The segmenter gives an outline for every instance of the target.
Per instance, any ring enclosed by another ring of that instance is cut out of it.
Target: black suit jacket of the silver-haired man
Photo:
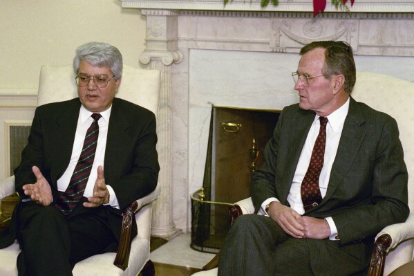
[[[23,198],[23,185],[36,182],[31,169],[36,165],[50,184],[52,204],[55,204],[59,196],[57,179],[68,167],[80,107],[79,98],[37,107],[28,145],[23,149],[21,164],[15,169],[16,191]],[[160,169],[156,142],[154,114],[136,104],[114,98],[106,140],[104,177],[106,185],[113,187],[120,210],[109,205],[104,208],[118,241],[122,210],[156,188]],[[136,226],[134,230],[133,234],[136,234]]]

